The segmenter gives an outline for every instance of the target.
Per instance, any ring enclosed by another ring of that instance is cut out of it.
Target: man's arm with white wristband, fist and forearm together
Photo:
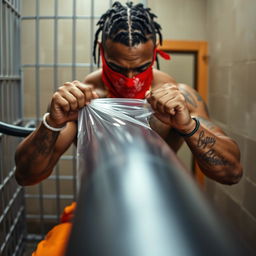
[[[75,139],[78,110],[97,97],[91,86],[78,81],[66,83],[54,93],[46,122],[54,128],[65,128],[52,131],[41,123],[20,143],[15,154],[15,177],[20,185],[36,184],[51,174]]]

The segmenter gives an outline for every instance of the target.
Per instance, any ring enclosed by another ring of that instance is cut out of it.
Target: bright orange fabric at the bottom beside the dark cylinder
[[[69,234],[72,228],[71,220],[74,216],[76,203],[65,207],[61,217],[61,224],[51,229],[44,240],[38,245],[32,256],[64,256]]]

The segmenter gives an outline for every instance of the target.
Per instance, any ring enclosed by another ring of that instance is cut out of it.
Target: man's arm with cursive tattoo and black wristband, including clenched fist
[[[198,131],[184,137],[201,170],[224,184],[235,184],[242,176],[237,144],[214,125],[200,95],[186,85],[165,84],[147,95],[156,116],[178,132],[189,134],[200,121]],[[177,136],[178,133],[177,133]]]

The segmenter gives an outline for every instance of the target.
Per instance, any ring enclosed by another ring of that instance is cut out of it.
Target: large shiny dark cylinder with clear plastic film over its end
[[[78,121],[80,189],[67,255],[245,255],[143,100],[97,99]]]

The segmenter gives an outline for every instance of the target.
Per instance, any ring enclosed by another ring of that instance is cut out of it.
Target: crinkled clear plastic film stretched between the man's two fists
[[[146,100],[95,99],[80,110],[77,140],[77,181],[100,163],[103,150],[115,157],[118,148],[133,138],[133,133],[150,129],[153,111]]]

